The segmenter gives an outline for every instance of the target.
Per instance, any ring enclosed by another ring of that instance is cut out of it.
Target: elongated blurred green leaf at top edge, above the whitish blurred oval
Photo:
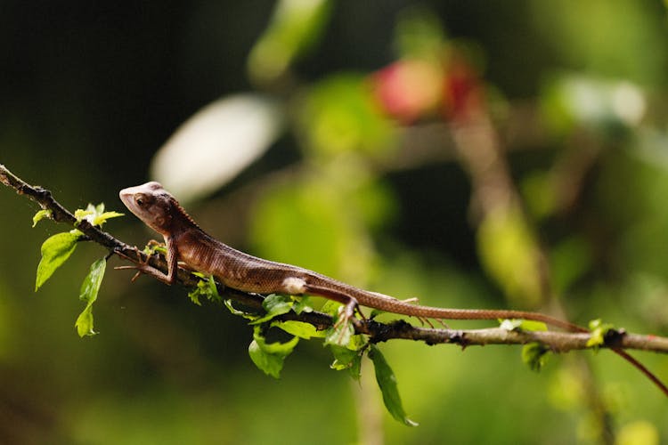
[[[261,84],[282,77],[290,63],[318,41],[330,6],[328,0],[279,0],[269,26],[250,51],[250,77]]]

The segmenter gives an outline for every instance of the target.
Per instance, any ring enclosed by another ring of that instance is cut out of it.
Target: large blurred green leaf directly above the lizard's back
[[[274,186],[257,201],[250,221],[261,256],[352,282],[369,279],[369,239],[337,184],[317,178]]]

